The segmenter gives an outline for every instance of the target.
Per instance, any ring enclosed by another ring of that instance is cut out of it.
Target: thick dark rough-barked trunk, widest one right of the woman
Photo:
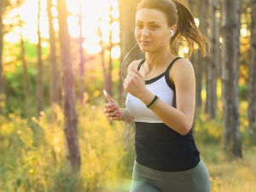
[[[224,149],[236,157],[241,157],[241,136],[237,91],[237,31],[239,16],[238,1],[224,0],[222,4],[222,101],[224,108]]]

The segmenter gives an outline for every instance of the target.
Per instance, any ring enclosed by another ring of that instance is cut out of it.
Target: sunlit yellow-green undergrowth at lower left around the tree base
[[[123,170],[121,137],[103,116],[102,108],[88,103],[79,108],[82,166],[75,173],[66,161],[64,116],[59,106],[41,113],[38,119],[22,119],[14,113],[0,119],[1,192],[94,191]]]

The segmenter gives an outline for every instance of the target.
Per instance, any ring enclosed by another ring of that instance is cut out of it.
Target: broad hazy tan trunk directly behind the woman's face
[[[137,10],[137,3],[139,0],[119,0],[119,24],[120,24],[120,65],[127,54],[127,52],[137,43],[134,35],[135,29],[135,15]],[[127,67],[131,61],[142,59],[144,54],[137,46],[136,49],[131,51],[131,54],[125,59],[123,67],[120,67],[119,72],[119,103],[122,105],[125,103],[126,91],[123,87],[123,79],[127,75]],[[122,71],[121,71],[122,70]]]

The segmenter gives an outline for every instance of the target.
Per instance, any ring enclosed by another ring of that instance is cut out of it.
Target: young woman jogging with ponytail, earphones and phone
[[[135,151],[131,192],[209,192],[207,167],[192,132],[195,73],[175,56],[173,42],[186,39],[206,54],[207,39],[189,9],[175,0],[142,0],[137,6],[135,36],[145,59],[132,61],[124,88],[125,106],[106,103],[110,120],[134,120]],[[169,47],[170,46],[170,47]],[[121,113],[125,113],[122,115]]]

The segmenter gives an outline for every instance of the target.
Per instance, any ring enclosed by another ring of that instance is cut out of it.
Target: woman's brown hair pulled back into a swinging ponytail
[[[177,31],[170,40],[172,54],[177,55],[172,44],[175,38],[185,40],[189,45],[190,54],[195,50],[195,44],[201,49],[201,54],[206,55],[206,47],[210,49],[207,38],[199,31],[195,25],[195,20],[190,10],[177,0],[142,0],[137,5],[140,9],[158,9],[166,15],[168,26],[177,25]]]

